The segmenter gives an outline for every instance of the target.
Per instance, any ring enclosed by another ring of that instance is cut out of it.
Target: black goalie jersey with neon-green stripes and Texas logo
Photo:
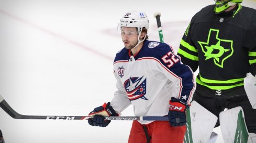
[[[178,55],[195,72],[197,84],[210,89],[243,86],[246,73],[256,74],[256,10],[237,6],[229,17],[216,15],[215,5],[192,18]]]

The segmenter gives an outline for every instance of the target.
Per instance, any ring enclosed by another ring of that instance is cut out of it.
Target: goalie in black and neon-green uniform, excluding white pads
[[[256,110],[243,87],[247,73],[256,74],[256,10],[241,2],[216,0],[197,12],[178,55],[194,72],[199,67],[193,100],[216,116],[241,106],[249,133],[256,133]]]

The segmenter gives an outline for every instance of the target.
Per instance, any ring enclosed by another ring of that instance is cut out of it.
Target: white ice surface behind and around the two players
[[[256,7],[244,0],[243,5]],[[193,15],[210,0],[14,1],[0,0],[0,94],[28,115],[87,115],[116,90],[113,59],[123,48],[117,23],[125,12],[149,17],[150,40],[159,41],[153,14],[161,11],[165,43],[175,50]],[[123,115],[133,115],[132,107]],[[127,142],[131,121],[93,127],[85,121],[15,120],[0,109],[7,143]],[[221,143],[220,129],[217,142]]]

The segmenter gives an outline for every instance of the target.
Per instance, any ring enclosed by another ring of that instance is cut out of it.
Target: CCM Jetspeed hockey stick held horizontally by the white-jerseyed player
[[[13,110],[5,99],[0,95],[0,107],[14,119],[42,119],[42,120],[88,120],[92,116],[42,116],[42,115],[22,115]],[[106,116],[105,120],[140,120],[140,121],[168,121],[167,116]]]

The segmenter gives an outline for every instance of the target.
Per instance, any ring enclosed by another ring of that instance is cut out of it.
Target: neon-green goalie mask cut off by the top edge
[[[242,3],[243,0],[215,0],[215,14],[220,14],[221,12],[228,9],[230,6]]]

